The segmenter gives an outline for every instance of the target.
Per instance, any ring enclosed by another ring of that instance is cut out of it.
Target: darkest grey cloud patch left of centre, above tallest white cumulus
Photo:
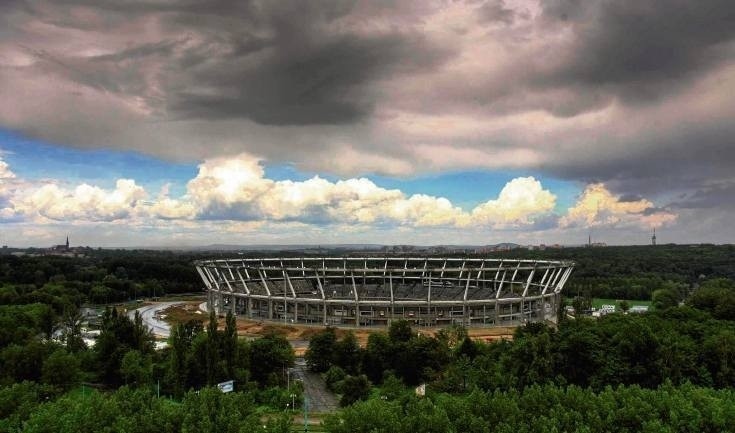
[[[173,89],[169,108],[184,117],[248,117],[262,124],[354,122],[371,111],[365,86],[372,80],[443,55],[420,36],[401,34],[269,48],[269,59],[255,67],[248,65],[250,53],[194,66],[187,78],[212,91],[199,95],[184,83]]]

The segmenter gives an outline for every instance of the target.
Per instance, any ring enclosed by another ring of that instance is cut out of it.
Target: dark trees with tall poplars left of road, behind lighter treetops
[[[267,391],[285,382],[283,369],[294,360],[282,336],[238,339],[231,315],[224,329],[218,329],[213,314],[206,327],[201,321],[174,326],[169,346],[154,350],[151,332],[137,313],[131,319],[107,309],[92,348],[81,338],[78,313],[67,310],[58,324],[47,321],[50,314],[43,304],[0,306],[0,385],[33,381],[52,395],[82,382],[104,389],[155,386],[181,397],[189,389],[235,379],[241,389]],[[59,339],[50,338],[54,331]]]

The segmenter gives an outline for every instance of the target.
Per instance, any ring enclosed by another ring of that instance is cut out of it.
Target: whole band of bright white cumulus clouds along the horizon
[[[8,182],[12,188],[2,189]],[[114,188],[24,181],[0,160],[0,194],[4,194],[0,195],[0,216],[36,224],[113,223],[187,230],[212,230],[213,224],[228,224],[235,231],[263,224],[283,229],[308,226],[342,234],[377,228],[533,231],[582,226],[659,227],[676,219],[675,214],[656,208],[647,199],[623,199],[601,183],[588,185],[557,225],[557,197],[534,177],[512,179],[497,197],[465,210],[445,197],[409,195],[367,178],[270,179],[262,161],[250,154],[202,162],[181,196],[172,197],[169,186],[151,198],[132,179],[118,179]],[[539,221],[550,221],[553,227],[538,228],[535,223]]]

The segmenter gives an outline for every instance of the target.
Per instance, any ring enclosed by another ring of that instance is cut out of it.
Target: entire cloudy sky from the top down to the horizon
[[[732,0],[0,2],[0,242],[735,241]]]

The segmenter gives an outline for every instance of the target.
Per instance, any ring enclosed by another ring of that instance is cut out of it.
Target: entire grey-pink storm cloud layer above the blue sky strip
[[[0,8],[0,122],[55,143],[349,176],[528,169],[681,208],[717,203],[735,167],[731,0]]]

